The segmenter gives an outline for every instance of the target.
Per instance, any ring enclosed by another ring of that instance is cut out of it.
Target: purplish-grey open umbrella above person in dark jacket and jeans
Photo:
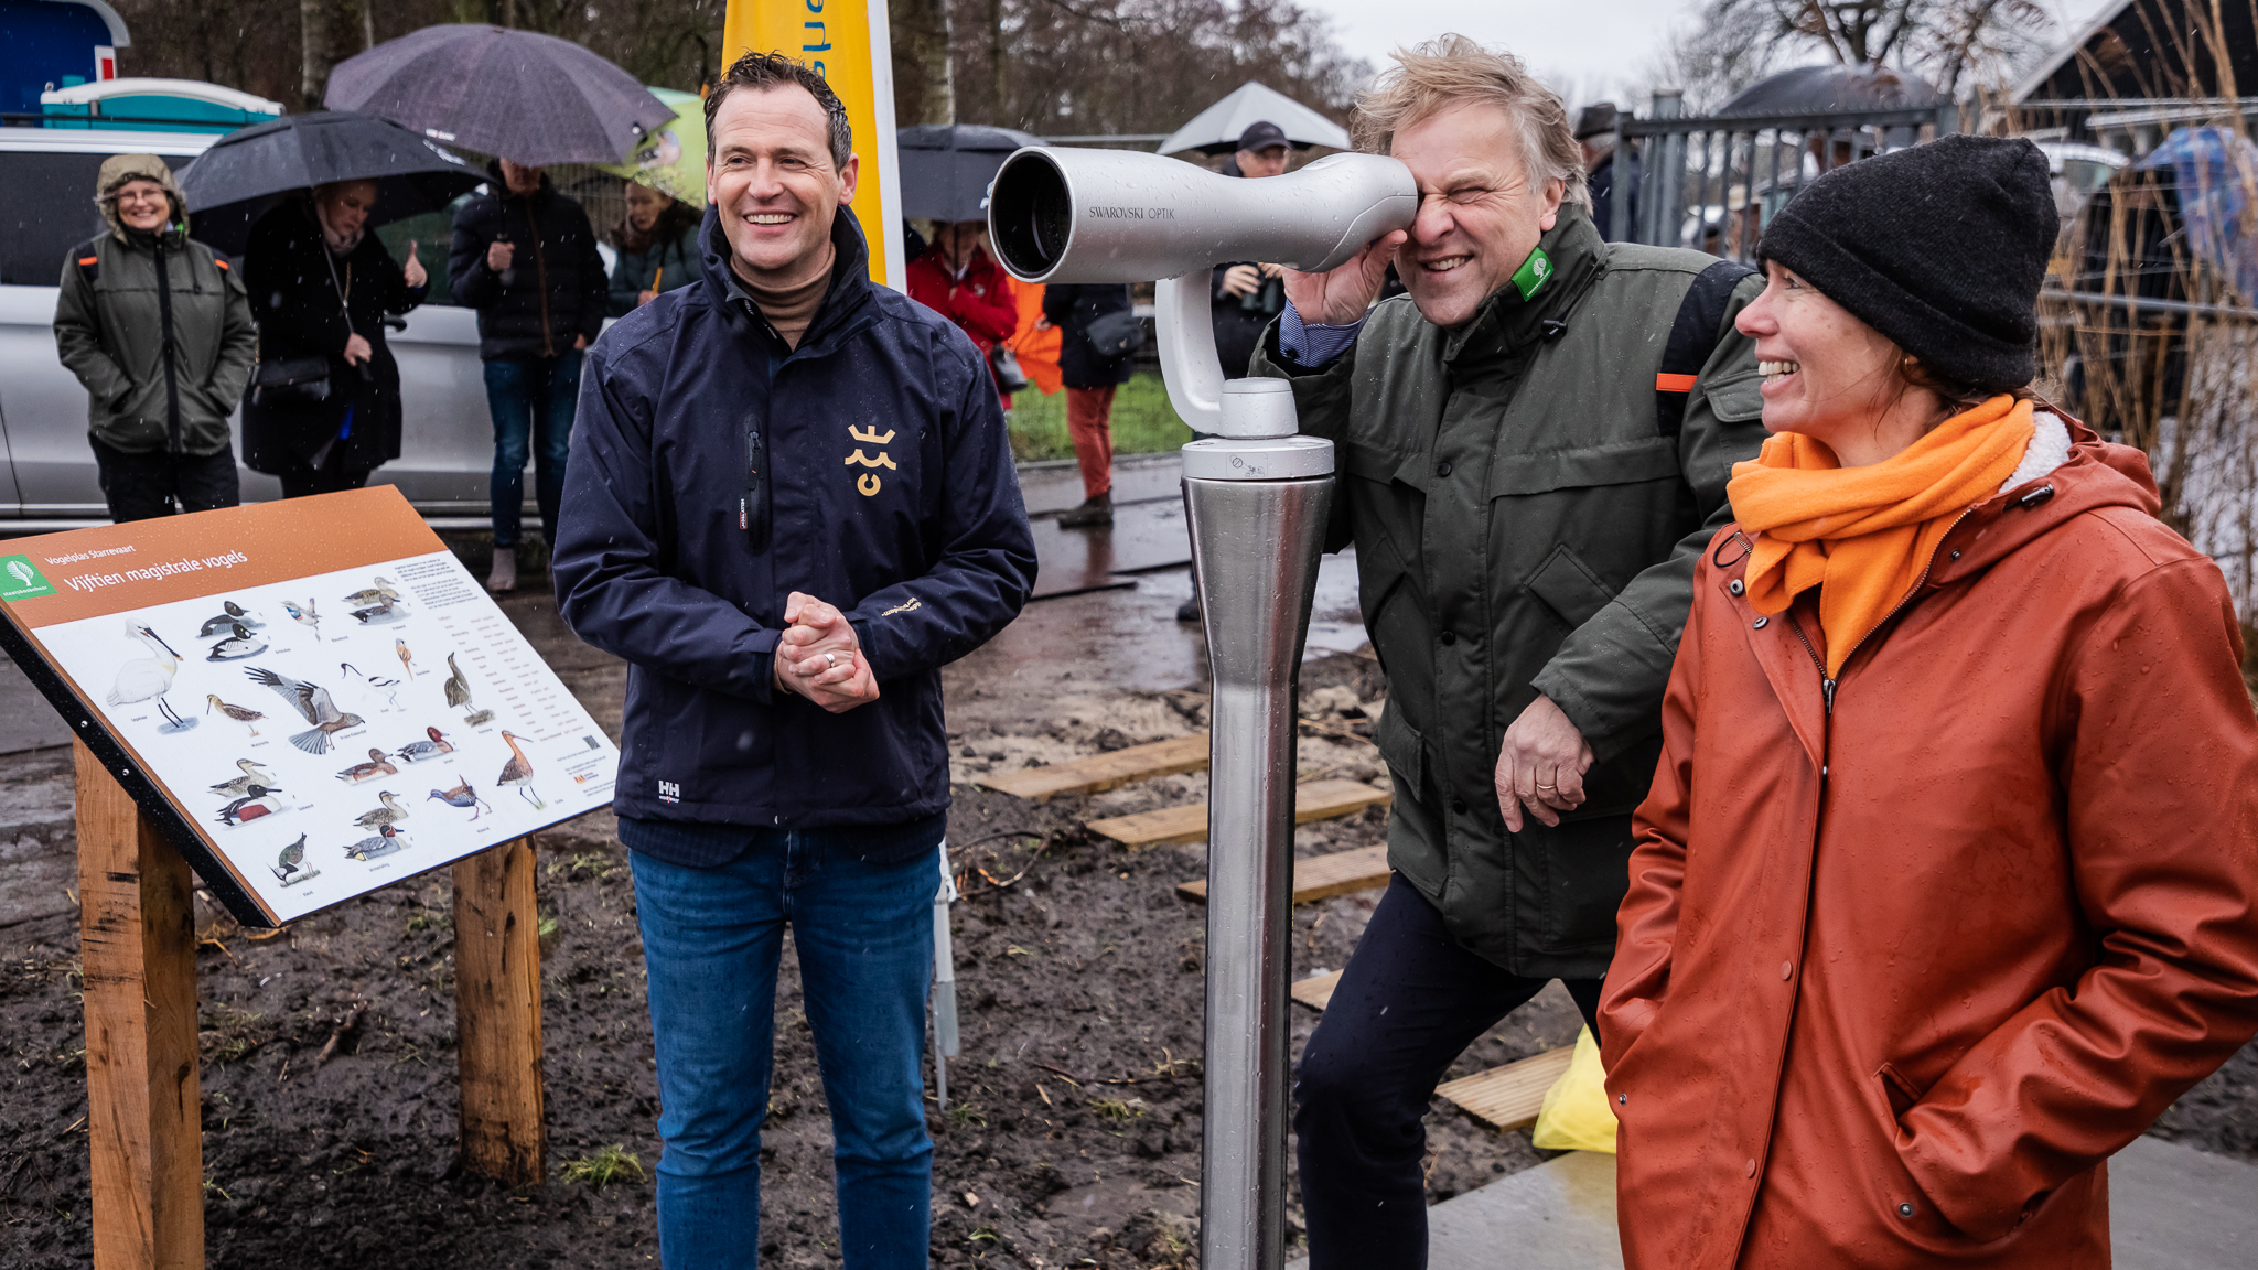
[[[533,167],[619,163],[675,118],[632,75],[555,36],[445,25],[336,63],[323,104]]]

